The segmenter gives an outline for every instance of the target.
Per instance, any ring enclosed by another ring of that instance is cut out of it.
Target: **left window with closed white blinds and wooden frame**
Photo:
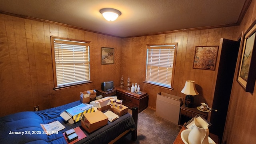
[[[90,81],[90,42],[51,37],[54,89]]]

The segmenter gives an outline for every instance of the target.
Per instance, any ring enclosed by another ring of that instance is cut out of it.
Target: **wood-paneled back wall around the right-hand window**
[[[195,46],[219,45],[220,38],[234,40],[237,36],[236,30],[237,27],[225,27],[122,39],[121,73],[125,78],[130,76],[132,83],[140,84],[142,91],[148,92],[148,106],[151,108],[156,108],[156,95],[160,92],[185,98],[186,95],[180,91],[186,80],[194,80],[196,83],[199,95],[194,97],[194,104],[199,106],[204,102],[211,107],[216,71],[192,69]],[[173,90],[143,83],[146,71],[146,44],[158,43],[178,43]]]

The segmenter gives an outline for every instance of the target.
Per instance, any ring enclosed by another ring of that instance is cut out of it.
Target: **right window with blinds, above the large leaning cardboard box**
[[[147,45],[146,82],[172,87],[177,43]]]

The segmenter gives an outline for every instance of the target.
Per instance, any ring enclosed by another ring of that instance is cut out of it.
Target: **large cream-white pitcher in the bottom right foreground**
[[[208,135],[209,129],[206,122],[203,119],[194,118],[194,128],[188,134],[189,144],[209,144]]]

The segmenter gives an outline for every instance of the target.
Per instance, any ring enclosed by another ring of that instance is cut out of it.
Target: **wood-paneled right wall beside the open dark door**
[[[248,31],[253,23],[256,24],[256,0],[252,0],[238,28],[238,34]],[[248,93],[236,81],[241,51],[242,47],[236,64],[223,144],[252,144],[256,141],[256,86],[254,93]]]

